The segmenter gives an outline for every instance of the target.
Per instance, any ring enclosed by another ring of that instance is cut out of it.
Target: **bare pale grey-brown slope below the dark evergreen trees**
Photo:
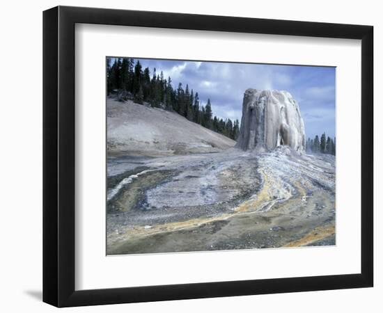
[[[178,113],[132,101],[107,99],[109,155],[161,156],[219,152],[233,147],[230,138],[190,122]]]

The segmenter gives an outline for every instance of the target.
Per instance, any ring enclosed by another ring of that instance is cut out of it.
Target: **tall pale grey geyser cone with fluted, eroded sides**
[[[237,145],[242,150],[269,151],[279,145],[304,152],[306,138],[298,103],[287,91],[247,89]]]

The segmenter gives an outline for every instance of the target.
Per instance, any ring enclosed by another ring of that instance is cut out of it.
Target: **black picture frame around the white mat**
[[[361,273],[76,291],[76,23],[361,40]],[[65,6],[44,11],[44,302],[71,307],[359,287],[373,287],[373,26]]]

